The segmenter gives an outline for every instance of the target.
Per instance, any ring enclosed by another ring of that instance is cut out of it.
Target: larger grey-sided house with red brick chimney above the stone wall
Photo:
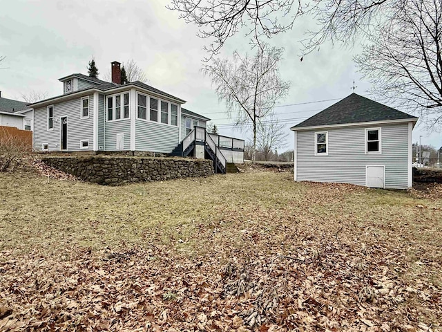
[[[205,132],[210,119],[183,109],[181,98],[120,80],[119,62],[112,63],[112,82],[79,73],[60,78],[62,95],[30,105],[35,150],[171,154],[196,128]]]

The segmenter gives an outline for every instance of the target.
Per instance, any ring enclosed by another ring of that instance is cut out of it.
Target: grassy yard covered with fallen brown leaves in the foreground
[[[442,331],[442,203],[419,193],[0,174],[0,331]]]

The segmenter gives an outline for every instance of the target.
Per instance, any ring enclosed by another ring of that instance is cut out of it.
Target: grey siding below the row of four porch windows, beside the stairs
[[[186,128],[184,127],[184,133]],[[156,122],[135,121],[135,149],[169,154],[180,143],[180,129]]]

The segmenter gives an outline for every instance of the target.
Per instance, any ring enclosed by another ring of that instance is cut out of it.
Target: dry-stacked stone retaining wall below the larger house
[[[47,165],[100,185],[164,181],[213,174],[212,160],[113,156],[42,157]]]

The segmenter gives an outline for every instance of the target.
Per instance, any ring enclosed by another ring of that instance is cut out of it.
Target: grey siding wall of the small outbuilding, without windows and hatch
[[[365,128],[381,127],[382,154],[365,154]],[[315,156],[315,131],[328,131],[328,156]],[[408,124],[298,131],[298,181],[365,185],[366,165],[385,165],[385,187],[407,188]]]

